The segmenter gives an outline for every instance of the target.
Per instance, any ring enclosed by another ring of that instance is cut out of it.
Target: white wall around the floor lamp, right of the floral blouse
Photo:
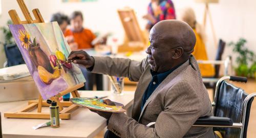
[[[203,21],[204,5],[195,3],[193,0],[174,0],[176,9],[183,7],[192,7],[197,15],[199,23]],[[240,37],[247,39],[247,47],[256,54],[256,1],[255,0],[219,0],[218,4],[210,4],[214,28],[217,38],[222,38],[226,42],[237,41]],[[178,13],[177,13],[178,14]],[[208,18],[207,18],[208,19]],[[206,25],[207,34],[207,52],[209,59],[214,59],[216,47],[212,37],[209,20]],[[234,55],[232,49],[226,46],[224,58],[228,55]],[[235,63],[235,56],[233,62]]]

